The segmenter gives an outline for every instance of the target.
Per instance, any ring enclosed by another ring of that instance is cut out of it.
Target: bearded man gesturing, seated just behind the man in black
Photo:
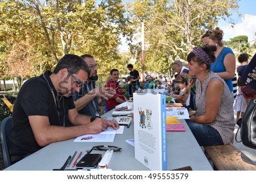
[[[101,97],[108,100],[108,98],[114,95],[115,90],[111,88],[101,88],[101,86],[97,86],[96,88],[98,65],[92,55],[82,55],[81,57],[90,68],[90,76],[88,80],[85,81],[80,92],[75,92],[73,100],[79,114],[90,115],[92,117],[100,116],[98,114],[98,104],[101,102]]]

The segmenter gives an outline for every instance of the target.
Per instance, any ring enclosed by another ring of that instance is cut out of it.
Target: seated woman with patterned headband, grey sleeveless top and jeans
[[[229,144],[236,124],[228,85],[210,71],[215,60],[214,51],[216,46],[196,47],[188,55],[189,75],[197,76],[197,110],[187,124],[200,146]]]

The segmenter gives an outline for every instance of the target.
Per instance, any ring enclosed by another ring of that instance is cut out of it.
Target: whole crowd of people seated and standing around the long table
[[[238,56],[241,65],[237,68],[238,96],[234,101],[236,59],[232,49],[223,46],[222,36],[218,27],[205,32],[201,36],[204,46],[193,48],[187,66],[176,60],[172,63],[175,75],[153,76],[148,72],[144,85],[139,72],[132,64],[127,65],[129,97],[140,89],[166,89],[189,110],[191,89],[195,88],[197,109],[187,124],[200,146],[232,142],[234,109],[237,119],[243,117],[250,98],[255,96],[246,96],[242,88],[255,88],[256,56],[249,63],[249,55],[242,53]],[[12,163],[53,142],[98,134],[108,126],[118,129],[116,121],[100,117],[98,106],[105,100],[111,110],[127,101],[118,82],[119,71],[113,68],[105,87],[101,87],[96,86],[97,68],[92,55],[69,54],[60,59],[53,72],[46,71],[23,84],[14,104],[9,137]]]

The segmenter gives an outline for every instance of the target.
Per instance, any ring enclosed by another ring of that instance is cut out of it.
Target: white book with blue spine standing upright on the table
[[[167,170],[166,96],[134,93],[135,159],[151,170]]]

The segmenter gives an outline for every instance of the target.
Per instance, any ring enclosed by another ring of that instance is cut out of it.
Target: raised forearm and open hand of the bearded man
[[[95,89],[90,90],[90,92],[74,101],[76,110],[82,110],[96,96],[103,97],[104,99],[108,100],[108,98],[112,97],[114,93],[115,90],[110,87],[101,88],[101,86],[97,86]]]

